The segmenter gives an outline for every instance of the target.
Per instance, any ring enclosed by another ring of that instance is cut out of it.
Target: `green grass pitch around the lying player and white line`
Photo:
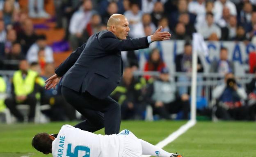
[[[184,121],[123,121],[138,138],[157,144],[185,124]],[[64,122],[49,124],[0,124],[0,157],[51,157],[31,146],[32,137],[39,132],[57,133]],[[75,122],[65,122],[74,125]],[[96,133],[103,134],[100,130]],[[165,150],[185,157],[256,157],[255,122],[197,122]]]

